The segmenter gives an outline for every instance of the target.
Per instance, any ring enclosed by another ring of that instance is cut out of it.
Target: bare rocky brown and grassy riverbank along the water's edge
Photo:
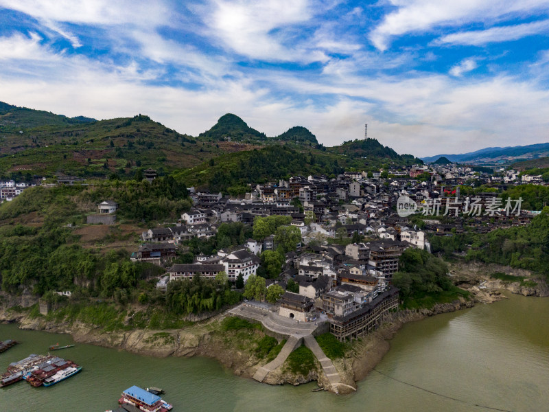
[[[492,303],[502,298],[499,289],[511,290],[525,295],[548,296],[549,288],[543,279],[536,286],[524,282],[503,282],[489,277],[489,273],[519,273],[511,268],[478,264],[452,264],[451,274],[458,286],[471,292],[471,299],[460,298],[447,304],[437,304],[430,309],[401,310],[390,314],[385,322],[373,333],[347,345],[347,351],[341,358],[332,359],[344,385],[339,393],[355,391],[356,382],[367,374],[382,360],[390,349],[390,340],[402,325],[419,321],[436,314],[454,312],[471,308],[475,303]],[[531,273],[520,272],[522,278],[533,282]],[[74,322],[47,321],[45,317],[31,317],[27,312],[0,310],[0,321],[17,321],[21,329],[43,330],[47,332],[71,334],[77,343],[91,343],[103,347],[114,347],[134,354],[167,357],[206,356],[215,358],[224,367],[237,376],[250,378],[259,367],[276,356],[281,345],[270,338],[259,325],[244,323],[242,328],[226,329],[226,314],[219,314],[211,319],[194,323],[189,327],[177,330],[114,330],[105,332],[103,328]],[[278,347],[278,349],[277,349]],[[318,361],[308,373],[296,373],[285,363],[274,369],[264,380],[270,385],[300,385],[317,381],[319,387],[328,388],[329,383],[323,374]]]

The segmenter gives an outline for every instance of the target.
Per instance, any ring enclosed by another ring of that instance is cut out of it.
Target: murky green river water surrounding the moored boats
[[[56,354],[82,365],[80,374],[48,388],[24,381],[1,388],[0,412],[102,412],[117,407],[131,385],[162,387],[174,412],[549,411],[548,319],[548,298],[512,295],[408,323],[350,396],[312,392],[316,383],[271,387],[207,358],[158,359],[78,344]],[[5,339],[21,343],[0,354],[2,372],[49,345],[72,343],[67,335],[0,325]]]

